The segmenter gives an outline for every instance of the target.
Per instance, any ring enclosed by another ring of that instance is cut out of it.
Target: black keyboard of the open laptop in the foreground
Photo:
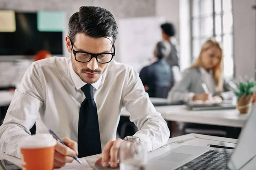
[[[231,152],[208,150],[176,170],[225,170]]]

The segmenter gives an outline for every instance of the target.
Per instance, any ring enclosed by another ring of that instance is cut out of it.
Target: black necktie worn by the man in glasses
[[[85,99],[81,103],[78,122],[78,157],[101,153],[99,121],[96,103],[93,98],[93,86],[84,85],[81,90]]]

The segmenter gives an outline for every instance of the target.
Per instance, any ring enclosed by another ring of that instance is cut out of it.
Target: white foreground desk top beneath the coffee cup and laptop
[[[176,147],[179,147],[181,145],[195,145],[195,146],[206,146],[207,144],[219,144],[219,142],[224,142],[225,145],[230,147],[235,147],[237,143],[237,139],[229,139],[229,138],[222,138],[222,137],[216,137],[216,136],[207,136],[207,135],[199,135],[199,134],[188,134],[183,136],[178,136],[174,138],[170,138],[168,142],[163,146],[160,147],[157,150],[154,150],[149,153],[149,159],[154,159],[158,156],[163,155],[166,152],[169,152],[172,149],[175,149]],[[84,159],[87,160],[87,162],[90,164],[91,167],[95,168],[94,162],[99,158],[100,154],[94,155],[94,156],[88,156]],[[13,163],[21,166],[20,159],[17,159],[12,156],[8,156],[4,153],[0,153],[0,159],[7,159],[9,161],[12,161]],[[251,160],[256,161],[256,157]],[[250,165],[249,165],[250,166]],[[245,166],[244,169],[251,170],[255,169],[254,167]]]

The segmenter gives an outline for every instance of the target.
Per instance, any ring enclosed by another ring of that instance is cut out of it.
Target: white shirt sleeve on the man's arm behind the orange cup
[[[31,135],[30,129],[43,105],[39,67],[33,63],[26,71],[0,127],[0,150],[20,158],[19,141]]]

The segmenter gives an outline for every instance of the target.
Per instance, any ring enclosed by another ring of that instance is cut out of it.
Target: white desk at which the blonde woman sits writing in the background
[[[248,114],[240,114],[238,110],[189,111],[185,105],[156,106],[157,112],[164,119],[175,122],[200,123],[230,127],[243,127]],[[121,116],[130,116],[123,109]]]

